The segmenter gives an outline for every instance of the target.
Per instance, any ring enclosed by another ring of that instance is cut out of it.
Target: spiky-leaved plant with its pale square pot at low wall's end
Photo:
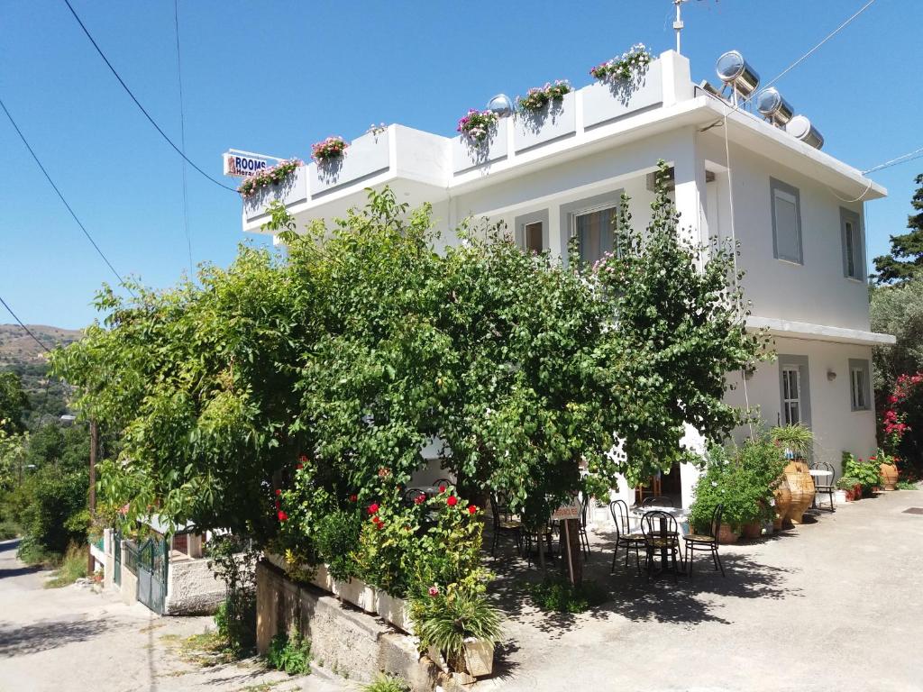
[[[421,646],[443,657],[453,671],[472,677],[491,674],[494,647],[500,636],[497,609],[479,593],[446,591],[434,585],[426,596],[412,602]]]

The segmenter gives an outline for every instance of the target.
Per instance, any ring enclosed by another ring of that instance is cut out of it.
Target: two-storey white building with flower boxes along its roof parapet
[[[275,197],[300,226],[342,216],[364,205],[366,187],[390,185],[399,201],[433,205],[445,242],[465,217],[486,217],[506,221],[524,248],[556,255],[581,233],[593,259],[611,248],[608,221],[623,191],[646,225],[660,159],[674,170],[683,233],[740,242],[748,324],[773,335],[777,360],[746,381],[730,374],[737,388],[727,399],[748,400],[769,424],[809,424],[815,459],[837,469],[844,450],[869,455],[871,348],[893,337],[869,330],[863,203],[886,191],[697,87],[675,52],[653,60],[632,89],[597,82],[544,117],[501,118],[482,148],[402,125],[366,134],[335,168],[311,163],[281,189],[248,198],[244,230],[260,230]],[[688,504],[695,470],[669,476],[664,493],[681,489]]]

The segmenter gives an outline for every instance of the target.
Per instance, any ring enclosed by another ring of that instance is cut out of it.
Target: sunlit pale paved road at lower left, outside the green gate
[[[289,678],[257,662],[184,662],[178,640],[210,617],[156,617],[89,588],[43,589],[47,576],[18,562],[16,542],[0,542],[0,692],[354,689],[322,671]]]

